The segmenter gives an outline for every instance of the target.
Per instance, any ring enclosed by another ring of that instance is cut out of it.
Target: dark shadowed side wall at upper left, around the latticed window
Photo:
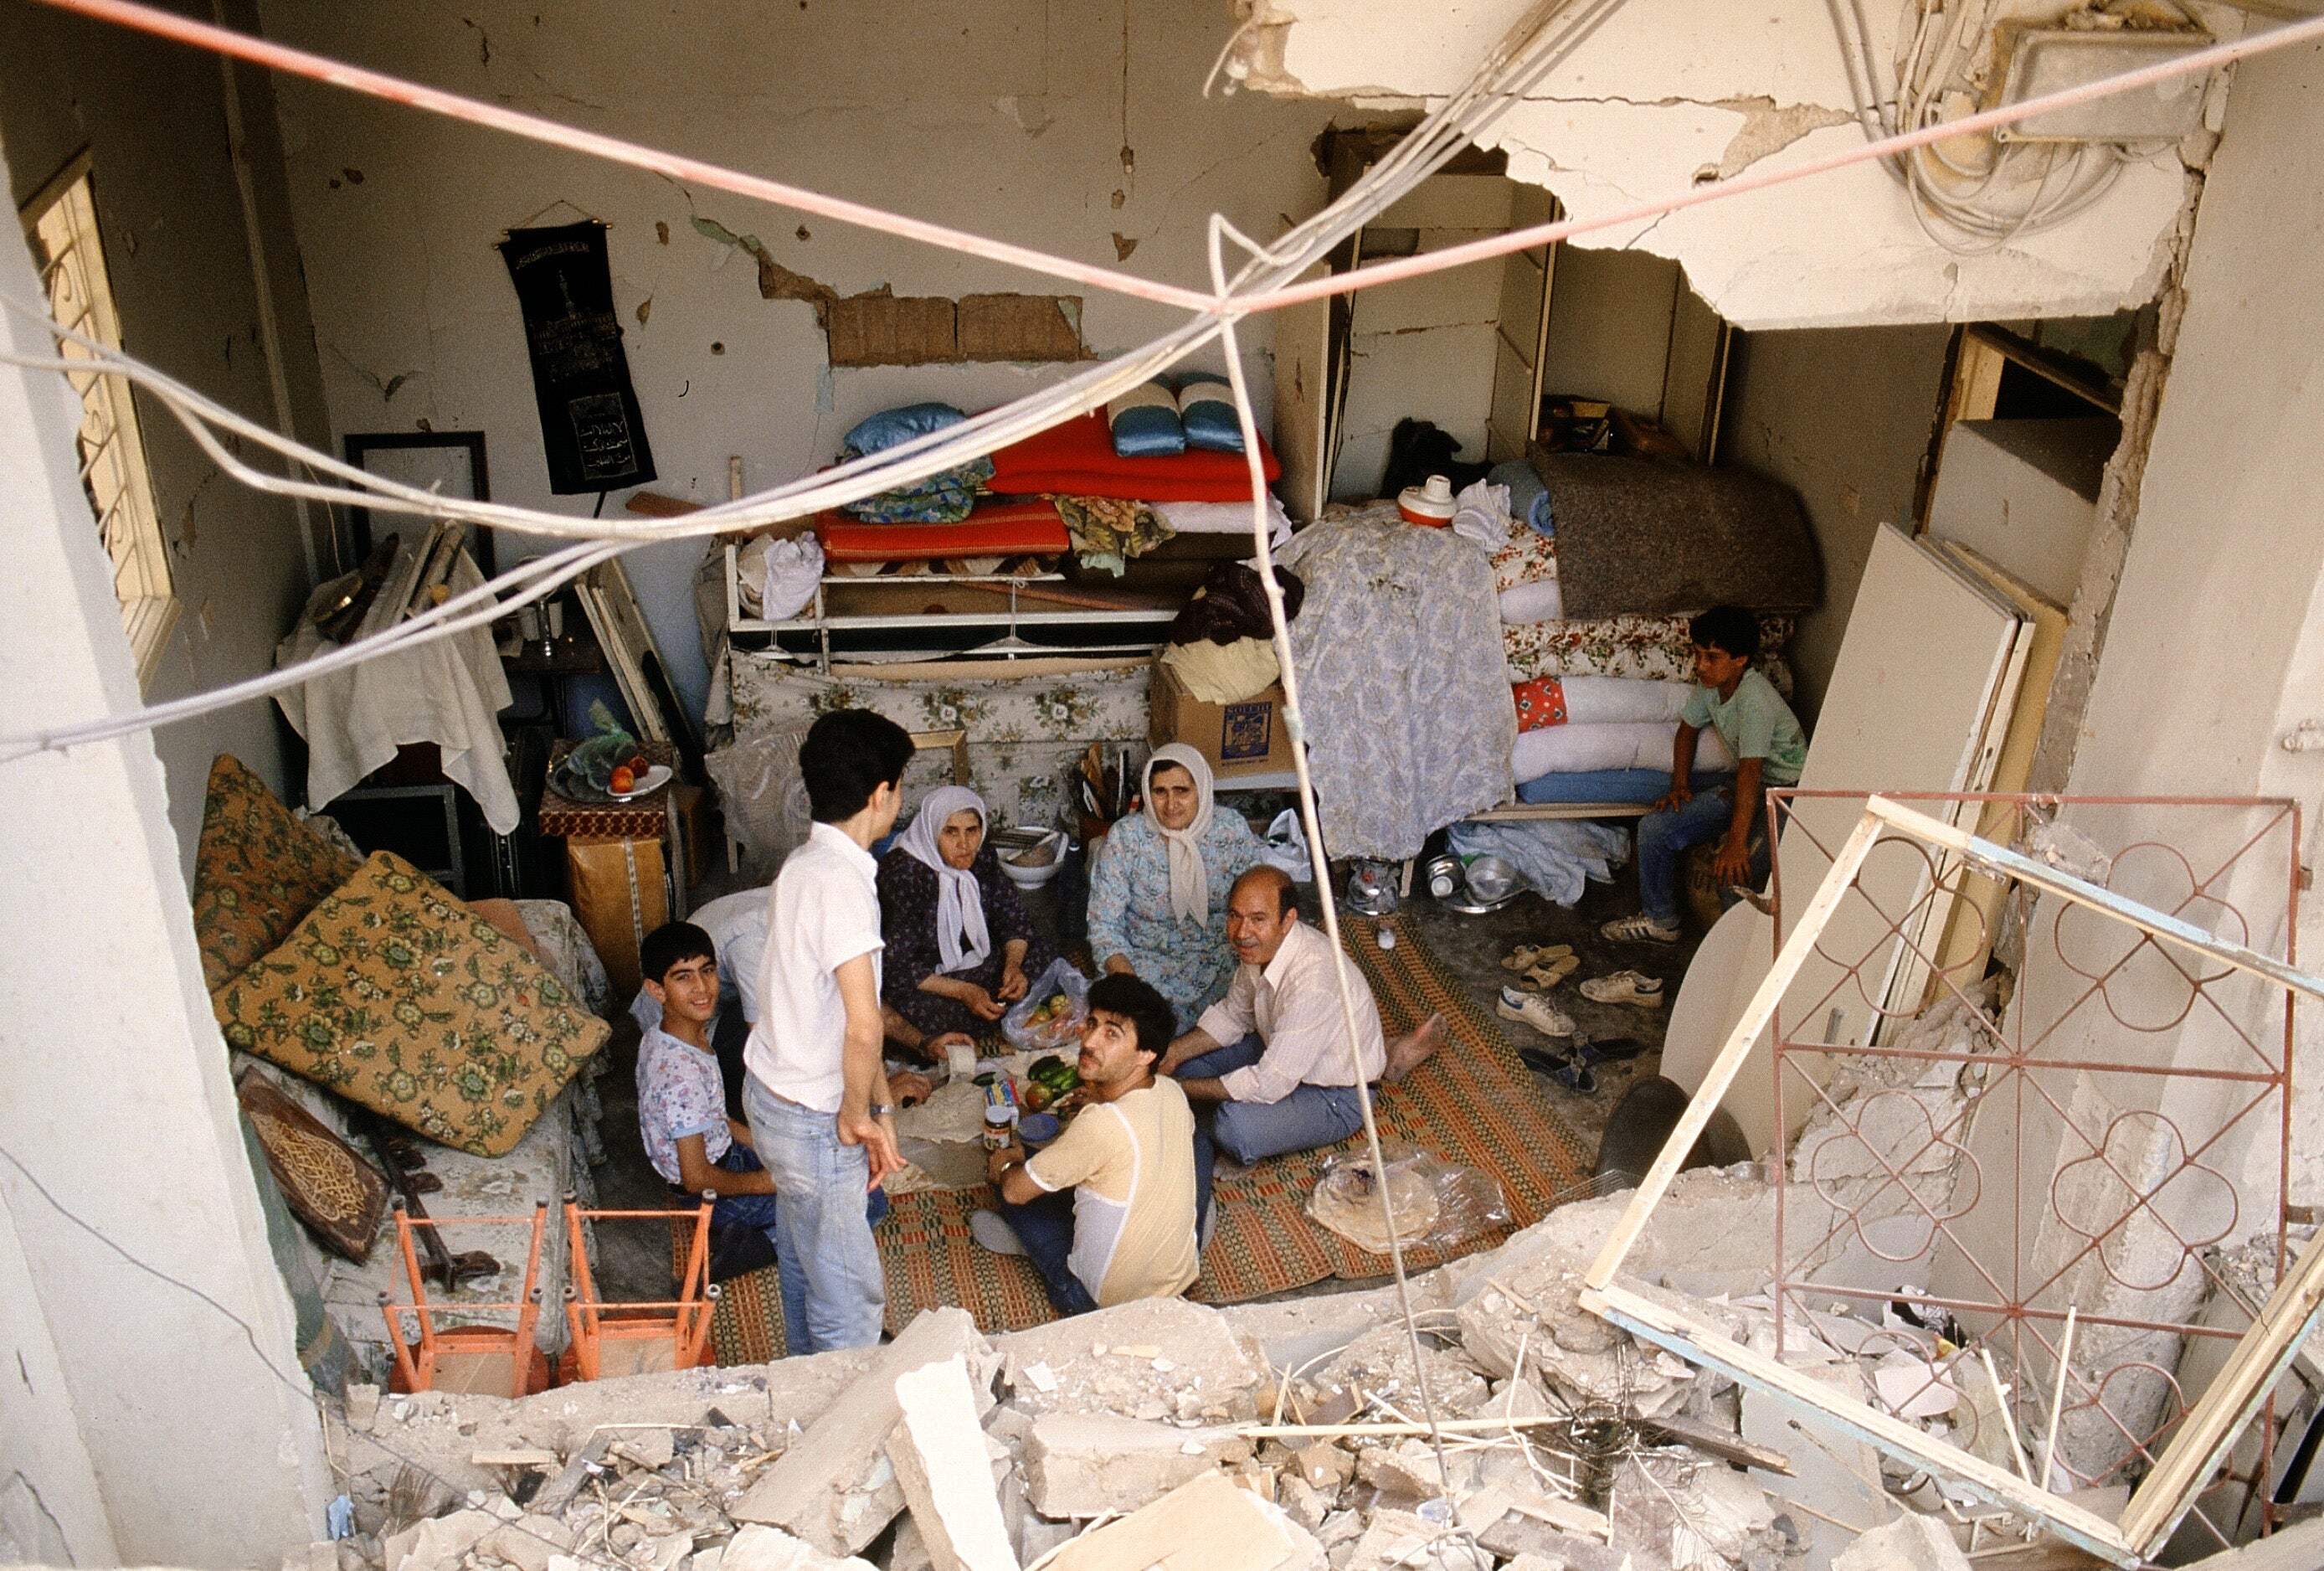
[[[244,0],[218,16],[256,30]],[[239,170],[235,116],[246,149]],[[9,207],[30,202],[86,151],[128,351],[260,425],[288,421],[302,439],[328,446],[272,132],[265,72],[221,72],[214,56],[46,7],[9,9],[9,46],[0,51]],[[253,281],[260,265],[265,286]],[[137,414],[179,600],[177,627],[144,688],[149,702],[165,702],[272,669],[309,569],[328,576],[337,567],[321,511],[304,516],[228,481],[144,393]],[[314,551],[302,537],[309,523]],[[193,871],[216,753],[235,753],[284,799],[297,799],[304,781],[284,774],[279,737],[272,704],[156,732],[181,871]]]

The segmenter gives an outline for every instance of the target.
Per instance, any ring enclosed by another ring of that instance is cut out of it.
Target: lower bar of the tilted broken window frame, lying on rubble
[[[1701,1099],[1697,1099],[1697,1104],[1699,1102]],[[1945,1441],[1924,1434],[1920,1425],[1892,1418],[1871,1404],[1852,1401],[1806,1371],[1780,1364],[1764,1353],[1752,1353],[1748,1346],[1729,1341],[1729,1334],[1717,1325],[1697,1320],[1685,1311],[1669,1308],[1618,1285],[1585,1287],[1580,1306],[1594,1315],[1604,1315],[1634,1336],[1648,1339],[1657,1348],[1666,1348],[1678,1357],[1685,1357],[1692,1364],[1715,1369],[1731,1380],[1741,1380],[1780,1397],[1806,1418],[1831,1422],[1845,1434],[1878,1446],[1892,1457],[1910,1457],[1924,1466],[1941,1469],[1948,1478],[1959,1480],[1961,1487],[1971,1490],[1980,1499],[2040,1522],[2068,1543],[2089,1550],[2110,1564],[2140,1564],[2138,1550],[2131,1548],[2124,1531],[2106,1518],[2099,1518],[2059,1494],[2036,1490],[2017,1473],[1994,1466],[1959,1446],[1948,1446]]]

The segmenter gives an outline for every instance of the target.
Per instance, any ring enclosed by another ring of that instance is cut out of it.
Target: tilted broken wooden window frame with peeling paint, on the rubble
[[[1864,816],[1834,855],[1831,869],[1808,899],[1799,925],[1783,941],[1776,964],[1769,969],[1766,978],[1762,978],[1757,992],[1752,992],[1750,1004],[1729,1032],[1717,1060],[1710,1064],[1703,1083],[1690,1099],[1685,1116],[1678,1120],[1678,1127],[1671,1129],[1671,1139],[1664,1143],[1662,1155],[1655,1157],[1645,1181],[1631,1195],[1629,1208],[1622,1213],[1613,1234],[1608,1234],[1597,1262],[1592,1262],[1585,1276],[1580,1304],[1624,1332],[1643,1336],[1669,1353],[1715,1369],[1731,1380],[1783,1397],[1801,1413],[1822,1418],[1855,1439],[1878,1446],[1892,1457],[1943,1471],[1980,1499],[1987,1499],[2006,1511],[2015,1511],[2068,1543],[2099,1555],[2101,1559],[2136,1566],[2145,1557],[2159,1552],[2171,1538],[2171,1531],[2194,1506],[2196,1494],[2212,1478],[2219,1462],[2236,1443],[2236,1436],[2243,1434],[2243,1429],[2257,1418],[2259,1408],[2275,1390],[2275,1383],[2291,1366],[2301,1346],[2315,1332],[2317,1322],[2324,1320],[2324,1234],[2308,1243],[2298,1262],[2275,1285],[2268,1304],[2236,1343],[2236,1353],[2212,1380],[2210,1390],[2180,1420],[2178,1434],[2164,1448],[2154,1471],[2150,1471],[2131,1494],[2131,1504],[2122,1513],[2119,1522],[2108,1522],[2068,1499],[2017,1478],[2008,1469],[1994,1466],[1982,1457],[1922,1434],[1915,1425],[1892,1418],[1871,1404],[1850,1401],[1808,1373],[1734,1341],[1724,1327],[1618,1283],[1622,1262],[1636,1246],[1648,1218],[1655,1206],[1662,1204],[1664,1195],[1669,1195],[1680,1164],[1694,1148],[1694,1141],[1703,1134],[1703,1127],[1710,1122],[1710,1116],[1717,1111],[1729,1085],[1734,1085],[1741,1074],[1752,1043],[1773,1023],[1776,1009],[1789,990],[1792,978],[1799,976],[1799,969],[1815,951],[1815,941],[1831,923],[1834,911],[1838,911],[1841,899],[1855,883],[1857,871],[1873,851],[1873,844],[1885,832],[1941,853],[1950,853],[1987,874],[2013,878],[2043,895],[2052,895],[2096,911],[2099,916],[2126,923],[2150,939],[2194,955],[2205,955],[2291,995],[2324,999],[2324,978],[2310,976],[2308,971],[2261,955],[2243,944],[2217,939],[2140,902],[2124,899],[2113,890],[2061,874],[2031,858],[2008,851],[2006,846],[1978,839],[1966,830],[1875,795],[1864,804]]]

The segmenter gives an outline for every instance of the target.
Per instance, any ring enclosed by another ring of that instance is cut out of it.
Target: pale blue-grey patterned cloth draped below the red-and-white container
[[[1518,711],[1485,555],[1394,504],[1301,530],[1292,662],[1329,855],[1420,855],[1432,830],[1508,799]]]

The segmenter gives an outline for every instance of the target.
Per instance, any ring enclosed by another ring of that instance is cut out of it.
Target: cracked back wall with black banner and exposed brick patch
[[[1322,205],[1308,146],[1332,107],[1204,100],[1234,28],[1208,0],[711,0],[679,12],[265,0],[263,12],[290,44],[1081,260],[1116,265],[1120,235],[1136,244],[1120,267],[1185,286],[1208,286],[1213,209],[1267,239]],[[1076,293],[1055,281],[323,86],[286,81],[281,121],[332,425],[483,430],[502,502],[593,504],[548,495],[516,295],[493,251],[502,230],[532,218],[611,223],[614,302],[662,474],[655,490],[669,495],[725,500],[730,453],[753,486],[786,481],[830,462],[848,425],[876,409],[925,397],[983,409],[1060,374],[834,374],[811,307],[762,300],[755,263],[690,221],[758,235],[781,265],[839,293]],[[1171,323],[1160,307],[1090,295],[1083,339],[1104,356]],[[1246,342],[1264,411],[1271,323],[1255,318]],[[618,495],[607,514],[621,516]],[[704,688],[688,588],[697,560],[688,544],[630,560],[690,702]]]

